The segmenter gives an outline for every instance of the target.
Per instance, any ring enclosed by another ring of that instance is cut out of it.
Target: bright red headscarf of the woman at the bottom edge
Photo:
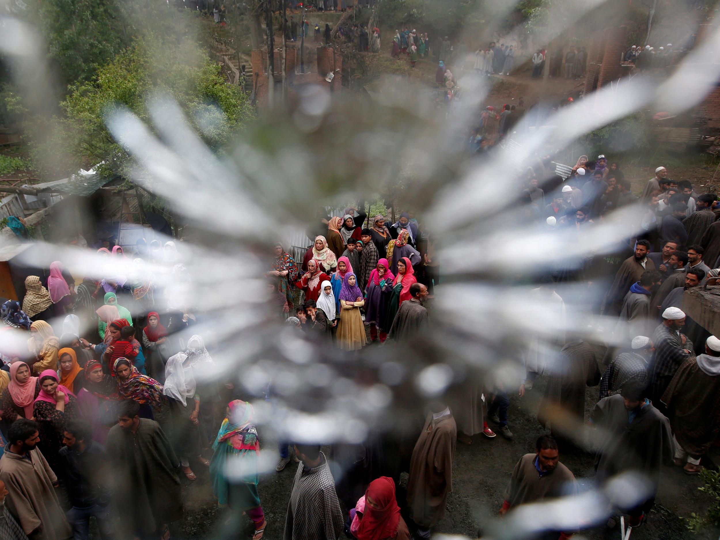
[[[371,498],[376,508],[369,505]],[[370,482],[365,492],[365,512],[356,532],[358,540],[380,540],[397,536],[400,507],[395,500],[395,480],[387,476]]]

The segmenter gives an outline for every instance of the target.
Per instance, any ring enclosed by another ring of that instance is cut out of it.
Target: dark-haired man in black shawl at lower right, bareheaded
[[[620,394],[604,397],[590,414],[598,454],[595,480],[602,485],[616,474],[641,474],[649,485],[631,508],[629,525],[639,526],[655,502],[660,464],[672,463],[674,451],[670,423],[645,397],[644,388],[626,384]]]

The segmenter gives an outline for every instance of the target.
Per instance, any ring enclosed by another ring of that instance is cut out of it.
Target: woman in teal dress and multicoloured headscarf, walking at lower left
[[[228,404],[212,450],[210,481],[217,505],[246,514],[254,524],[253,539],[261,538],[266,521],[258,495],[260,441],[250,403],[234,400]],[[230,475],[231,470],[241,474]]]

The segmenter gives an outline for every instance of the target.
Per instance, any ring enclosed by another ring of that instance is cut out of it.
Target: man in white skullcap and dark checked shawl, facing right
[[[662,312],[662,323],[652,333],[655,358],[651,395],[658,408],[662,407],[660,397],[678,371],[678,367],[693,354],[688,338],[680,333],[684,325],[685,312],[679,307],[668,307]]]

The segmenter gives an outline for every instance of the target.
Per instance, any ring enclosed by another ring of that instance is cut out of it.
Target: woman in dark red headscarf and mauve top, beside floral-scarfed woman
[[[93,427],[92,440],[105,444],[107,433],[117,423],[117,377],[102,371],[97,360],[85,364],[85,383],[78,394],[80,415]]]

